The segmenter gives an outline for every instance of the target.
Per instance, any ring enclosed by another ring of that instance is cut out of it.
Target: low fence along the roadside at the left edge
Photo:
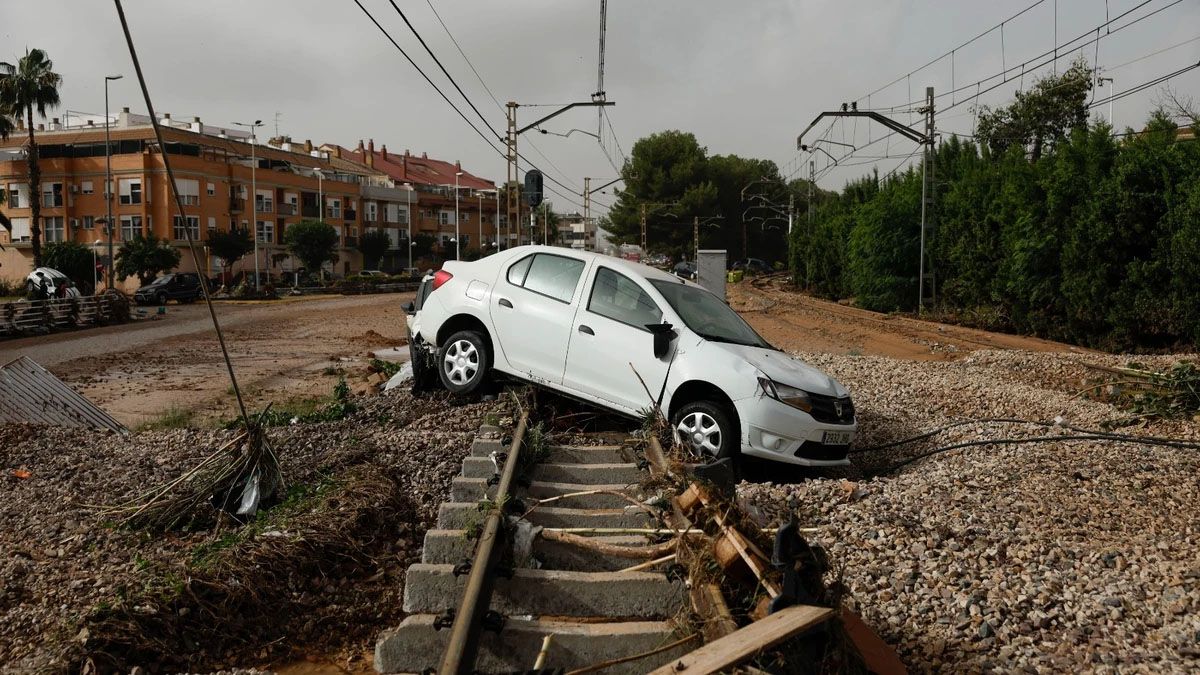
[[[130,301],[115,293],[0,305],[0,338],[42,335],[55,330],[124,323]]]

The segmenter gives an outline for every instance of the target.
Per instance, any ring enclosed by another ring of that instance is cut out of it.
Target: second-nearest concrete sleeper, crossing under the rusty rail
[[[409,566],[404,611],[440,614],[457,607],[467,575],[452,565]],[[658,572],[517,569],[496,579],[491,608],[508,615],[667,619],[686,602],[683,581]]]

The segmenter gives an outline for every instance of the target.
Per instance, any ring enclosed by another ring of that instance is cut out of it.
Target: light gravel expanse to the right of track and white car
[[[860,411],[858,447],[964,418],[1096,428],[1127,413],[1076,396],[1094,354],[976,352],[955,362],[799,354]],[[1174,357],[1139,358],[1150,366]],[[1124,432],[1200,440],[1193,420]],[[1187,673],[1200,669],[1200,450],[1048,442],[952,450],[955,442],[1064,434],[970,424],[792,485],[739,485],[767,520],[816,526],[847,603],[916,671]]]

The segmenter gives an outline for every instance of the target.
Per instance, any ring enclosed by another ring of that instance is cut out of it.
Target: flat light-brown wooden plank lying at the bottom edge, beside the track
[[[650,675],[708,675],[720,673],[803,633],[834,615],[827,607],[793,605],[728,635],[708,643],[654,670]]]

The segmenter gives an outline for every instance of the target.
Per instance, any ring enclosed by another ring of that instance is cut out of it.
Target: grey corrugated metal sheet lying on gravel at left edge
[[[28,357],[0,366],[0,424],[26,423],[110,429],[121,423]]]

